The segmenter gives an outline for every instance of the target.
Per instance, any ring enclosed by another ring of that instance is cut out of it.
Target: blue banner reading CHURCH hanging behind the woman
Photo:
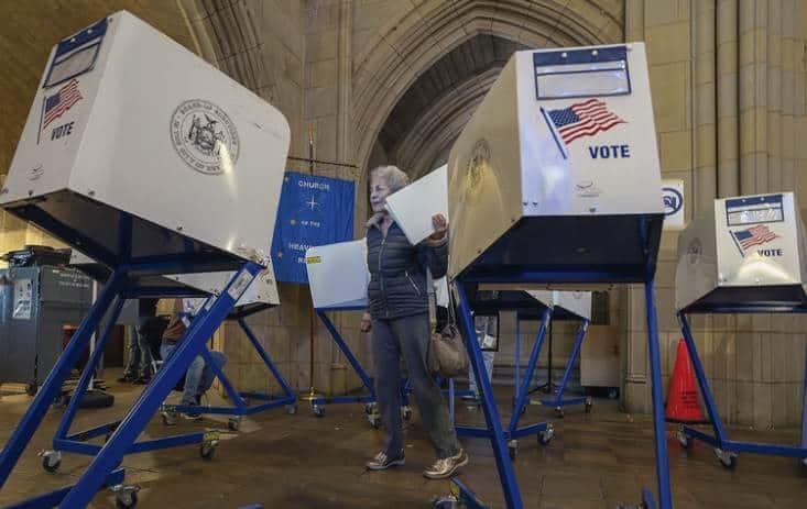
[[[272,237],[279,281],[307,284],[308,247],[353,240],[355,197],[352,181],[286,171]]]

